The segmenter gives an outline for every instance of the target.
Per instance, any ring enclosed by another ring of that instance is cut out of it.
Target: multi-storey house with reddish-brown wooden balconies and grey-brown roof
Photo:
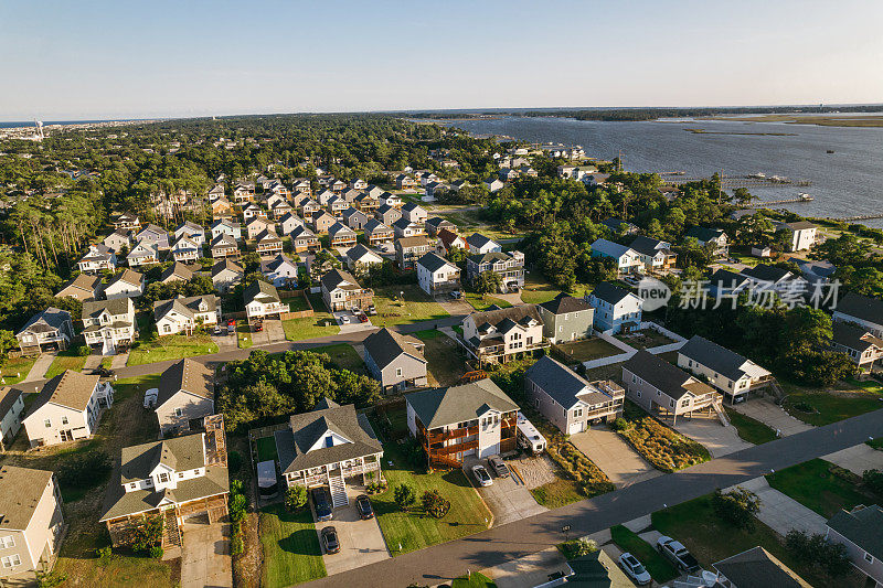
[[[407,428],[430,468],[515,450],[518,405],[489,378],[405,395]]]

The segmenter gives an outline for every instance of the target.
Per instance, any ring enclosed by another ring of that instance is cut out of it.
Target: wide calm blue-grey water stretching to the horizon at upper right
[[[602,122],[564,118],[458,120],[471,133],[506,135],[536,142],[582,145],[587,156],[613,159],[623,150],[628,171],[684,171],[688,177],[764,172],[810,186],[751,188],[762,200],[807,192],[805,204],[778,205],[807,216],[883,213],[883,128],[815,127],[783,122],[647,121]],[[699,135],[684,129],[723,132],[788,132],[792,136]],[[826,151],[832,149],[833,154]],[[865,221],[883,226],[883,220]]]

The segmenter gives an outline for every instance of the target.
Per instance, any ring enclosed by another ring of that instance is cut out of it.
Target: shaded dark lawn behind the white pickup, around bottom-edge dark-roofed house
[[[759,545],[812,586],[843,586],[796,562],[785,549],[784,538],[760,521],[755,521],[753,533],[722,522],[714,514],[711,494],[657,511],[651,520],[657,531],[683,543],[704,569],[711,569],[715,562]]]

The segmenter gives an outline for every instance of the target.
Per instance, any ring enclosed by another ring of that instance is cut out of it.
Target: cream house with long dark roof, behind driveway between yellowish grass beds
[[[623,416],[626,400],[620,385],[609,379],[589,383],[549,355],[524,372],[524,393],[531,405],[564,435],[617,419]]]

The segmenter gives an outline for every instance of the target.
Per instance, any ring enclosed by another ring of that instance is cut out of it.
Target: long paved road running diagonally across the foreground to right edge
[[[440,584],[465,574],[467,569],[485,569],[547,549],[564,541],[563,525],[571,525],[571,537],[588,535],[664,505],[679,504],[716,488],[742,483],[770,470],[787,468],[880,436],[883,436],[883,410],[875,410],[462,539],[322,578],[310,586],[404,588],[412,582]]]

